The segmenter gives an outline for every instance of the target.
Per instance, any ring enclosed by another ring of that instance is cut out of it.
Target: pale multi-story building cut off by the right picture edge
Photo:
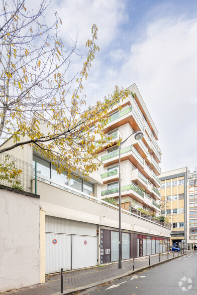
[[[197,171],[188,173],[187,183],[187,243],[197,249]]]

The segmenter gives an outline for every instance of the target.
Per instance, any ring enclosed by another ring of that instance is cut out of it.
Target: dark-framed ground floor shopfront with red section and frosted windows
[[[122,232],[122,260],[169,251],[170,240],[133,232]],[[101,228],[101,264],[119,259],[119,232]]]

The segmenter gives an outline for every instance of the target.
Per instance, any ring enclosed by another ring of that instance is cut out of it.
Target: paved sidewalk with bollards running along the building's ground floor
[[[174,253],[177,257],[178,253]],[[179,253],[179,256],[180,253]],[[173,253],[169,253],[169,259],[173,258]],[[161,262],[167,261],[167,254],[161,255]],[[159,255],[150,256],[150,264],[159,262]],[[135,270],[144,268],[149,265],[148,256],[142,258],[135,258]],[[106,266],[93,267],[82,270],[67,271],[64,273],[63,290],[64,294],[73,292],[75,288],[85,289],[85,286],[91,284],[89,287],[97,284],[107,282],[133,272],[133,260],[122,262],[122,268],[118,268],[118,263]],[[77,291],[77,289],[76,289]],[[42,284],[33,285],[30,287],[4,292],[3,295],[51,295],[60,292],[60,274],[50,275],[46,277],[46,282]]]

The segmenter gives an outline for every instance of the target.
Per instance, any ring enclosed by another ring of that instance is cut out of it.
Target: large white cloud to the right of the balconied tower
[[[124,86],[137,83],[158,127],[163,171],[197,163],[196,52],[197,19],[158,20],[122,68]]]

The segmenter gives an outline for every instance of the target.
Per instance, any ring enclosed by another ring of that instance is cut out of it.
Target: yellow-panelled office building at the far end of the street
[[[187,245],[187,167],[161,173],[161,214],[172,224],[171,245]],[[196,208],[197,209],[197,208]]]

